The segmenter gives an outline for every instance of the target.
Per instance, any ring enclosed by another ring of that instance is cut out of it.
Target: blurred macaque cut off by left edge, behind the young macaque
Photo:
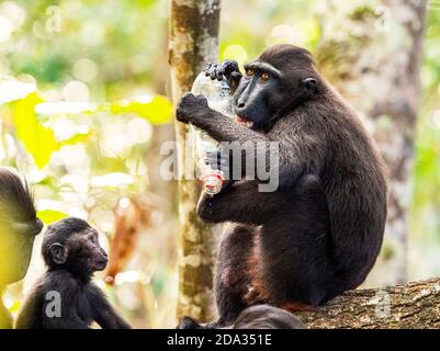
[[[14,170],[0,167],[0,329],[12,328],[12,318],[1,303],[2,292],[26,274],[42,228],[27,183]]]

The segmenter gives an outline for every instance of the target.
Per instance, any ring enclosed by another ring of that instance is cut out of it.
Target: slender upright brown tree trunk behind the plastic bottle
[[[217,61],[219,0],[171,0],[169,63],[174,104],[207,63]],[[200,222],[195,206],[199,183],[184,165],[185,125],[176,122],[176,138],[182,178],[179,181],[179,301],[177,315],[210,320],[213,312],[213,274],[215,235]]]

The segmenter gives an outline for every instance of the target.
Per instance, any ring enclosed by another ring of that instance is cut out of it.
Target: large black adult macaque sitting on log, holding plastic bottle
[[[239,123],[191,93],[176,114],[218,141],[255,148],[245,155],[242,180],[213,197],[202,195],[198,205],[205,222],[235,223],[223,236],[216,263],[219,326],[255,304],[293,312],[357,287],[374,265],[386,219],[381,157],[312,55],[277,45],[245,68],[241,75],[236,63],[225,61],[206,71],[236,87]],[[247,166],[267,157],[270,141],[279,143],[279,186],[261,192]]]

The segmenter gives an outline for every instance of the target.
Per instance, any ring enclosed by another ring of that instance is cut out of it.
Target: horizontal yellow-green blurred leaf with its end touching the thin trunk
[[[124,100],[111,104],[111,112],[135,113],[153,124],[165,124],[171,121],[172,104],[162,95],[145,95],[136,100]]]

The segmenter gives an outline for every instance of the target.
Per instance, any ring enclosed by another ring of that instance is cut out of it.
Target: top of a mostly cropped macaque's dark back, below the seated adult
[[[191,317],[183,317],[179,329],[212,329],[216,326],[202,326]],[[293,314],[270,305],[256,305],[244,309],[234,325],[219,329],[306,329],[307,327]]]

